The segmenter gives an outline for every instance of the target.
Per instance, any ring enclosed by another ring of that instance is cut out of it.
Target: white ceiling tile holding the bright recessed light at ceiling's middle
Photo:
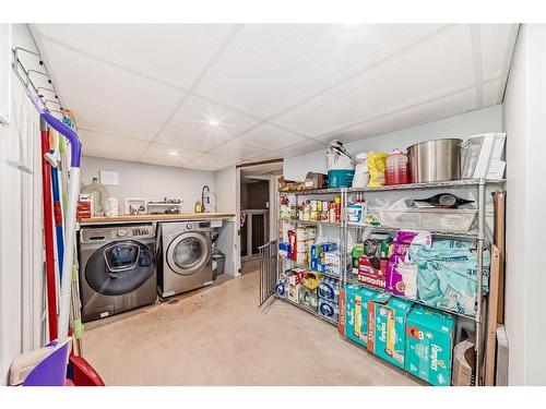
[[[212,125],[215,121],[218,124]],[[258,121],[206,99],[190,96],[159,133],[158,141],[193,151],[209,151],[256,125]]]

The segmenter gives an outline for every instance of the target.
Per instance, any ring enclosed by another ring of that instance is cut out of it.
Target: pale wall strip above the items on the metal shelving
[[[477,133],[500,132],[501,130],[501,106],[497,105],[347,143],[345,147],[353,155],[367,151],[391,152],[396,147],[405,148],[412,144],[432,139],[459,137],[465,140]],[[325,149],[285,158],[284,177],[286,179],[301,181],[308,171],[327,172]]]

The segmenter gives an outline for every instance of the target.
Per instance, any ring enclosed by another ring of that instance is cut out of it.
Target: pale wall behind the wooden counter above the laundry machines
[[[85,184],[91,183],[93,177],[98,177],[99,170],[119,172],[119,185],[106,188],[111,197],[118,199],[120,212],[126,197],[145,197],[149,201],[168,197],[181,199],[183,212],[191,213],[195,201],[201,201],[201,190],[205,184],[213,192],[206,210],[216,210],[214,172],[91,156],[82,158],[82,181]]]

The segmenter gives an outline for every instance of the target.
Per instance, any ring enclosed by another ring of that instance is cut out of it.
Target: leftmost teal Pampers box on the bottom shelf
[[[368,301],[384,296],[358,285],[340,290],[340,334],[366,347],[368,345]]]

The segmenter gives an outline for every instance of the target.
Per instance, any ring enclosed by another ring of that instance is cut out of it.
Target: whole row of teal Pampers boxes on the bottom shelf
[[[340,291],[340,333],[432,385],[451,384],[450,314],[348,285]]]

